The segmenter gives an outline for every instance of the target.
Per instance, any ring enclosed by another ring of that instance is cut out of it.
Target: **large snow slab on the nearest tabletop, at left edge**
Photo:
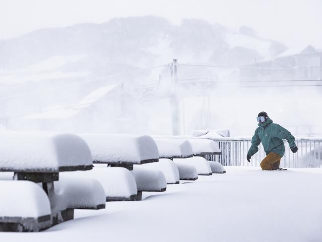
[[[90,169],[91,152],[73,134],[0,133],[0,170],[64,171]]]

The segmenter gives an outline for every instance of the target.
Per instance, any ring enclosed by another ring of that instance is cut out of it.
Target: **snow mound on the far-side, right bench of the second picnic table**
[[[161,192],[167,188],[167,181],[160,170],[150,170],[135,165],[131,171],[138,191]]]

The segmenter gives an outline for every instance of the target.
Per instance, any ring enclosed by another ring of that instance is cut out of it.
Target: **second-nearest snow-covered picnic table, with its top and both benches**
[[[87,174],[101,181],[107,201],[141,200],[143,191],[165,191],[167,182],[161,171],[140,167],[141,164],[159,161],[158,148],[150,136],[126,134],[80,136],[91,150],[93,163],[99,164],[99,167],[97,165]],[[109,166],[108,169],[104,169],[105,174],[102,164]]]

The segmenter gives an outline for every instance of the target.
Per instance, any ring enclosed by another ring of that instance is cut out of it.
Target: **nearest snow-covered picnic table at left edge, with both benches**
[[[0,187],[7,194],[0,199],[0,231],[40,231],[72,219],[75,208],[105,208],[95,179],[59,179],[62,171],[92,169],[80,137],[5,132],[0,143]]]

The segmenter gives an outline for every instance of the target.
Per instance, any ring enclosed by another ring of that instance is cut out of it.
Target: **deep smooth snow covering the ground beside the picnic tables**
[[[75,220],[45,232],[0,233],[0,241],[322,241],[322,174],[225,168],[166,192],[143,192],[143,201],[75,210]]]

